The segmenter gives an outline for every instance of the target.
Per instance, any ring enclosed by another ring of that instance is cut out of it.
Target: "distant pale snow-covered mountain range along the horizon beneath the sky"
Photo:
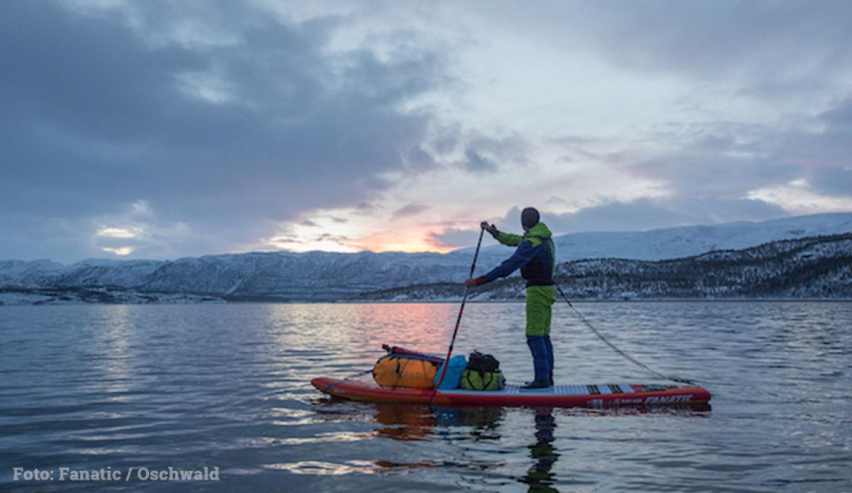
[[[659,261],[711,250],[746,249],[773,241],[852,232],[852,214],[793,217],[759,223],[688,226],[647,232],[589,232],[556,238],[557,261],[619,258]],[[483,240],[476,275],[512,252]],[[215,295],[232,300],[340,300],[415,284],[460,283],[473,249],[449,254],[273,252],[210,255],[176,261],[0,261],[0,289],[115,287],[141,293]]]

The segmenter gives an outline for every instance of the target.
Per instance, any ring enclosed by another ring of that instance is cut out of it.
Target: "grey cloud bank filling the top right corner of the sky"
[[[652,0],[638,7],[617,1],[593,9],[558,4],[528,14],[550,20],[541,23],[543,37],[569,37],[575,49],[642,72],[680,72],[704,81],[734,77],[740,88],[778,94],[813,89],[819,77],[841,74],[852,61],[846,49],[852,31],[842,21],[852,5],[845,0]],[[550,32],[555,29],[560,32]]]

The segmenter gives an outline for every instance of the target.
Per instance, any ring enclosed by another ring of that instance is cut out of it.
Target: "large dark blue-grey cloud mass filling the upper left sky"
[[[257,221],[382,189],[400,152],[429,161],[416,150],[431,117],[397,106],[444,82],[442,59],[412,37],[381,60],[332,56],[336,18],[288,24],[229,2],[130,8],[133,22],[4,5],[0,224],[24,213],[73,224],[144,199],[158,220],[218,231],[198,253],[223,251]],[[2,255],[32,241],[6,240]]]

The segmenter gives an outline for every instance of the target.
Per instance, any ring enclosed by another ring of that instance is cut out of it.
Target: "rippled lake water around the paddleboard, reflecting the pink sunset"
[[[446,351],[452,304],[0,307],[0,490],[852,491],[852,303],[577,307],[712,410],[430,409],[310,386],[383,343]],[[523,316],[469,305],[458,353],[529,379]],[[655,381],[564,305],[554,344],[557,381]],[[169,467],[219,480],[139,479]],[[120,480],[67,479],[101,469]]]

